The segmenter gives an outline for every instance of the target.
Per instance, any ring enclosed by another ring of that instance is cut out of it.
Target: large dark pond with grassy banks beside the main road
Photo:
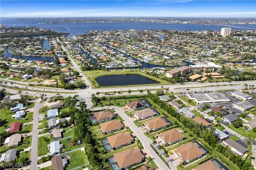
[[[115,85],[143,85],[160,83],[148,77],[139,74],[129,75],[103,75],[96,78],[100,86],[115,86]]]

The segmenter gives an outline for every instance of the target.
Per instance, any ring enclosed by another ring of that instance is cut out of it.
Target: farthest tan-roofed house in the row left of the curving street
[[[99,112],[90,114],[88,115],[88,117],[92,123],[96,123],[96,122],[103,123],[105,121],[114,119],[116,117],[116,114],[109,109],[105,109],[104,111],[99,111]]]

